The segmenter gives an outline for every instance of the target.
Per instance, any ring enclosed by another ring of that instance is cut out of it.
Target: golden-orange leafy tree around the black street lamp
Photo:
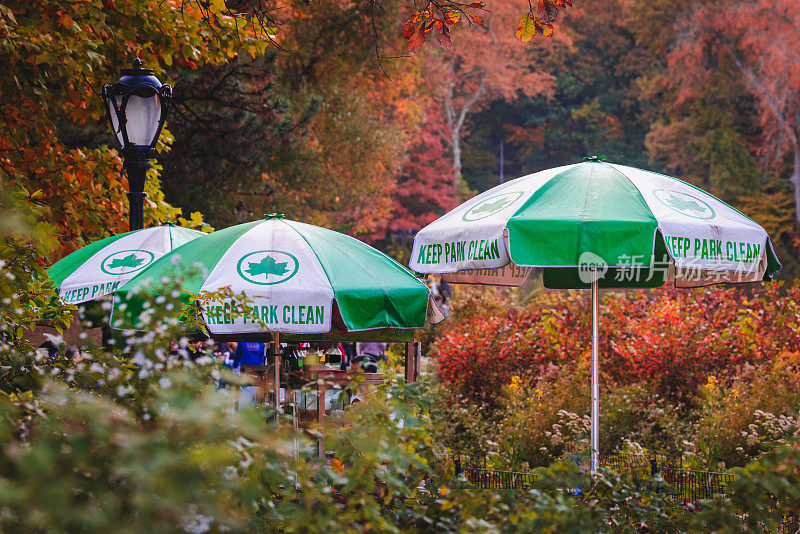
[[[248,29],[227,13],[207,15],[177,0],[0,5],[0,186],[19,188],[45,208],[44,219],[61,234],[56,257],[122,230],[127,219],[121,160],[104,146],[111,136],[98,94],[103,83],[135,55],[167,82],[166,66],[194,68],[271,46],[254,23]],[[164,202],[157,169],[146,185],[150,222],[179,213]]]

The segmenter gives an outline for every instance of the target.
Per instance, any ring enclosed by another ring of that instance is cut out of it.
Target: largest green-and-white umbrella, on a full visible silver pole
[[[592,449],[597,465],[598,287],[696,287],[767,280],[780,268],[764,229],[681,180],[588,161],[506,182],[414,239],[410,266],[464,283],[592,289]]]

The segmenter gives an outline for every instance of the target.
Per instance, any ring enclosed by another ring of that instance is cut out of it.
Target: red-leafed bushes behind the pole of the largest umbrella
[[[513,376],[535,383],[590,350],[588,292],[548,291],[524,306],[498,295],[470,292],[433,351],[447,387],[490,404]],[[689,400],[710,374],[733,378],[797,350],[799,300],[797,284],[604,292],[601,387],[644,383]]]

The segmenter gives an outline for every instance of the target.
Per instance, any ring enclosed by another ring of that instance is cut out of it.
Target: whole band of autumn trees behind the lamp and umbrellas
[[[175,87],[152,223],[279,211],[398,250],[466,196],[605,154],[741,208],[795,272],[792,2],[484,4],[5,1],[0,180],[58,227],[53,258],[122,230],[98,91],[138,55]]]

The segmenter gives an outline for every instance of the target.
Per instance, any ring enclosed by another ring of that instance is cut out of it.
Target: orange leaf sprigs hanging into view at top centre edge
[[[415,3],[416,4],[416,3]],[[415,5],[416,7],[416,5]],[[515,35],[523,43],[529,42],[537,34],[549,37],[553,34],[553,22],[558,19],[562,9],[572,7],[572,0],[539,0],[536,9],[529,1],[530,10],[517,25]],[[419,9],[412,11],[403,24],[403,37],[408,49],[417,52],[427,41],[428,33],[438,31],[437,41],[445,50],[453,48],[450,27],[466,21],[470,26],[483,26],[489,10],[483,2],[456,2],[453,0],[430,0],[422,2]]]

